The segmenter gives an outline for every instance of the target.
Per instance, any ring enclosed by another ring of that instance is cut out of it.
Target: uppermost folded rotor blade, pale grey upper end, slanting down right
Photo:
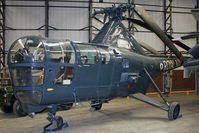
[[[148,13],[140,6],[135,6],[136,14],[152,29],[154,33],[169,47],[170,50],[183,62],[183,56],[180,51],[173,45],[167,35],[160,29],[160,27],[150,18]]]

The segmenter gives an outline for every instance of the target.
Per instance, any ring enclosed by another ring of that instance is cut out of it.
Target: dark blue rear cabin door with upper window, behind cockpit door
[[[95,46],[79,44],[78,65],[75,77],[75,96],[78,100],[90,100],[97,97],[98,52]]]

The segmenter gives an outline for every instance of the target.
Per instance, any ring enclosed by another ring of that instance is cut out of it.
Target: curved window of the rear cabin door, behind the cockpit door
[[[77,45],[80,52],[80,61],[82,64],[97,64],[98,54],[94,46]]]

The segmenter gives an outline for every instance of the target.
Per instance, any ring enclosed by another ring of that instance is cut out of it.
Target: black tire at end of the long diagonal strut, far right
[[[178,118],[180,113],[180,104],[177,102],[173,102],[169,106],[169,111],[168,111],[168,118],[169,120],[175,120]]]

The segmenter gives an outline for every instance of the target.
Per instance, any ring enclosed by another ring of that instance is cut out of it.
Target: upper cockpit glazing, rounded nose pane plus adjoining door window
[[[16,40],[9,51],[9,62],[43,62],[47,51],[52,62],[75,63],[74,49],[69,41],[48,40],[39,36],[26,36]]]

